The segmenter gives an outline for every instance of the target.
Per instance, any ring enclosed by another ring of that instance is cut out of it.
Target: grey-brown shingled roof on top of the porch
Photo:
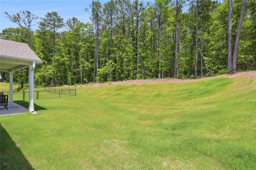
[[[0,39],[0,57],[42,62],[26,43]]]

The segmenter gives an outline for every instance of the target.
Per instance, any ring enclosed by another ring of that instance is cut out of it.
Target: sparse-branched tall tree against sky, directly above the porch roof
[[[27,30],[27,39],[28,45],[31,46],[31,32],[33,21],[38,19],[37,16],[32,14],[30,11],[19,11],[16,14],[10,15],[8,12],[5,12],[7,18],[19,25],[21,28],[25,28]]]

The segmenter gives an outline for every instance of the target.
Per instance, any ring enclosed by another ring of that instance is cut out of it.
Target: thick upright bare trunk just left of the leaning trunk
[[[228,16],[228,70],[232,70],[232,0],[229,0]]]

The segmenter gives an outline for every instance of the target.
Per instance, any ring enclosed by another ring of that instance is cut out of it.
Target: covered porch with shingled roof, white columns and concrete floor
[[[36,62],[42,63],[42,60],[36,56],[26,43],[0,39],[0,71],[8,72],[10,78],[8,109],[4,110],[1,107],[1,115],[27,111],[32,114],[36,113],[34,110],[34,69]],[[29,84],[28,109],[13,103],[13,73],[27,67]]]

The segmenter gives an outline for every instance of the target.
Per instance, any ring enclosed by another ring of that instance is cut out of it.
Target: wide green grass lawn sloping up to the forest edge
[[[255,76],[77,88],[35,104],[0,117],[1,169],[256,169]]]

